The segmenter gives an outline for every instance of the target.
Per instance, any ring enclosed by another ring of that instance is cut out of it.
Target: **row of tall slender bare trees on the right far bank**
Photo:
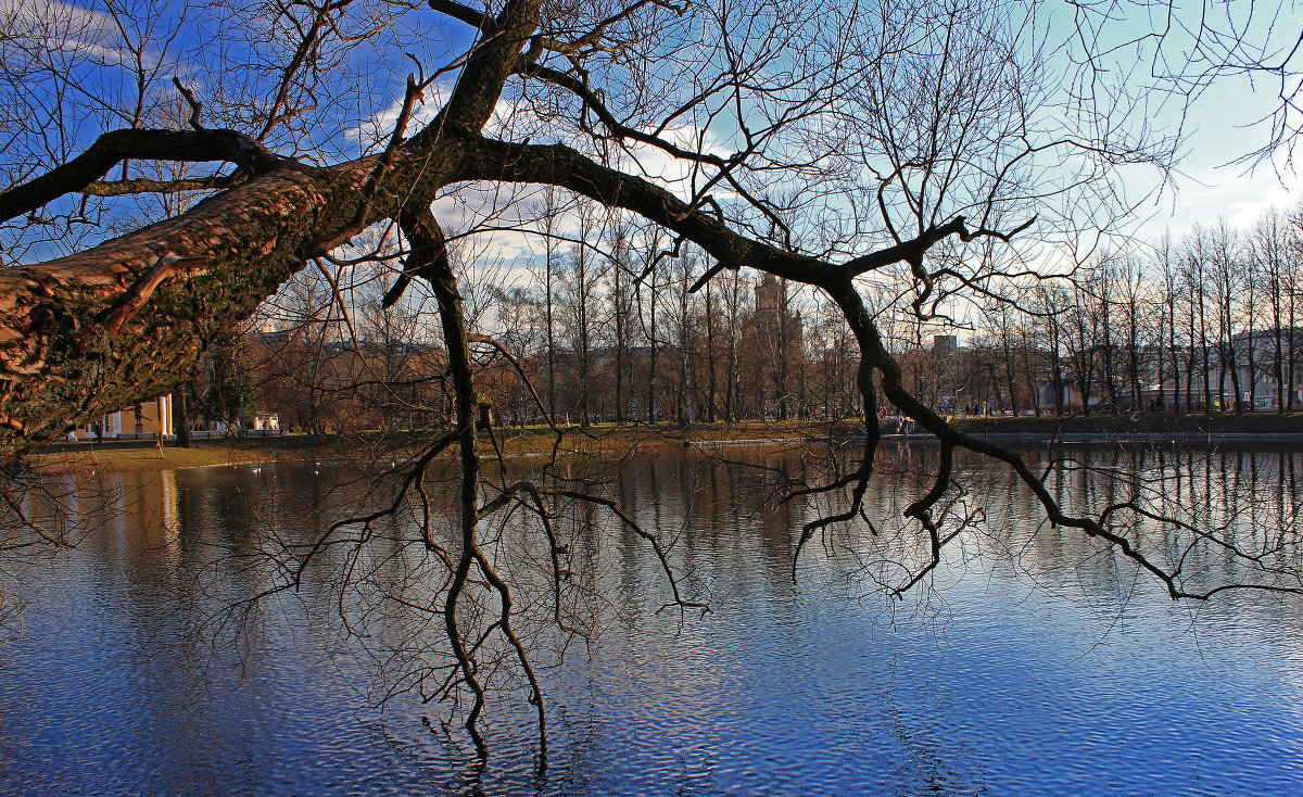
[[[956,389],[999,409],[1299,409],[1303,220],[1278,210],[1096,254],[981,318]],[[956,372],[958,371],[958,372]]]

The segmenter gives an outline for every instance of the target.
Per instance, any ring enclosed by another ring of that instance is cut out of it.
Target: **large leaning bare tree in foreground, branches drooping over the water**
[[[416,518],[403,544],[420,563],[414,577],[437,585],[418,609],[437,621],[447,652],[425,673],[429,697],[464,699],[463,724],[481,746],[478,720],[495,682],[524,684],[539,729],[546,724],[519,629],[538,621],[582,633],[568,608],[577,587],[559,514],[607,513],[662,563],[671,606],[697,604],[679,590],[659,538],[593,484],[551,469],[509,481],[509,468],[485,468],[483,457],[500,449],[480,385],[485,363],[511,350],[477,328],[476,315],[486,311],[477,302],[493,293],[468,284],[451,241],[526,229],[512,216],[523,185],[556,186],[654,227],[638,283],[638,306],[649,306],[652,319],[666,284],[658,270],[688,244],[711,258],[689,292],[749,268],[782,287],[783,297],[788,285],[812,288],[838,309],[859,353],[866,444],[788,494],[814,507],[797,556],[812,539],[869,518],[876,417],[890,402],[937,444],[928,483],[904,509],[899,531],[921,555],[890,585],[893,595],[926,580],[967,524],[947,510],[955,454],[964,449],[1007,466],[1052,524],[1111,547],[1174,598],[1231,586],[1209,586],[1183,569],[1182,551],[1199,544],[1221,546],[1251,565],[1256,581],[1234,586],[1299,589],[1296,572],[1270,552],[1242,551],[1181,522],[1166,522],[1165,550],[1140,546],[1140,518],[1164,516],[1139,497],[1105,501],[1089,514],[1066,510],[1016,452],[964,434],[911,392],[880,314],[865,301],[877,290],[893,297],[898,314],[929,323],[955,315],[1007,280],[1042,276],[1037,255],[1055,242],[1124,217],[1135,201],[1114,190],[1123,167],[1156,165],[1161,177],[1177,139],[1154,135],[1140,117],[1144,103],[1134,95],[1149,86],[1127,82],[1132,70],[1114,82],[1117,51],[1080,35],[1102,23],[1098,9],[1075,5],[1076,27],[1036,4],[968,0],[870,8],[503,0],[487,9],[456,0],[340,0],[232,3],[211,13],[220,25],[186,89],[192,129],[139,129],[133,113],[94,107],[76,124],[26,120],[23,130],[36,133],[18,138],[38,145],[5,148],[12,182],[0,193],[0,219],[12,223],[9,258],[23,264],[0,275],[0,451],[26,451],[169,388],[205,341],[248,318],[314,258],[337,257],[364,233],[397,241],[403,270],[382,306],[401,301],[416,280],[429,285],[451,423],[430,431],[391,503],[296,547],[271,591],[296,589],[323,551],[365,560],[377,524]],[[433,16],[465,26],[473,42],[431,44],[425,33]],[[407,52],[417,65],[400,99],[358,66],[396,72]],[[44,146],[55,138],[60,146]],[[654,159],[671,168],[649,168]],[[154,160],[227,165],[205,167],[184,185],[132,184],[128,175],[104,180],[124,164]],[[74,198],[195,188],[214,194],[119,237],[108,236],[122,229],[96,224],[100,208],[117,207],[111,198],[87,201],[86,208]],[[464,217],[440,221],[431,210],[448,206]],[[57,237],[43,250],[39,244],[52,240],[44,223],[55,215],[102,242]],[[582,260],[584,276],[573,271],[573,285],[588,292],[589,236],[577,244],[572,260]],[[590,306],[595,294],[586,296]],[[786,319],[784,303],[775,300],[774,309]],[[1098,322],[1081,322],[1095,324],[1081,335],[1083,353],[1088,335],[1093,352]],[[645,329],[654,363],[659,328],[652,320]],[[786,322],[777,332],[787,337]],[[1113,391],[1109,376],[1104,387]],[[1080,378],[1089,389],[1089,362]],[[779,412],[797,412],[787,374],[777,382]],[[653,418],[654,384],[649,375]],[[455,477],[434,490],[431,464],[448,451],[456,452]],[[820,504],[834,495],[844,503]],[[498,556],[512,514],[530,518],[530,544],[520,547],[542,552],[533,570],[541,586]],[[529,598],[519,600],[521,591]],[[512,667],[483,665],[508,660]]]

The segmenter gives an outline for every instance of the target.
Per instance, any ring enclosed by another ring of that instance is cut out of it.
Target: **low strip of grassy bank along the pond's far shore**
[[[1029,439],[1054,434],[1121,435],[1162,432],[1177,435],[1207,434],[1281,434],[1303,435],[1303,413],[1248,413],[1244,415],[1092,415],[1075,418],[959,418],[955,425],[973,435],[1025,434]],[[883,423],[883,434],[896,430],[894,422]],[[827,436],[853,435],[861,431],[853,422],[761,421],[748,423],[675,423],[595,425],[588,428],[568,427],[560,440],[547,427],[495,430],[486,447],[496,443],[509,458],[559,456],[619,458],[636,453],[683,451],[711,441],[754,441],[757,444],[794,444]],[[250,462],[278,461],[357,461],[405,458],[420,451],[429,435],[361,432],[354,435],[287,435],[280,438],[248,438],[195,440],[192,448],[173,443],[159,447],[152,440],[122,440],[102,444],[60,443],[31,454],[27,464],[46,471],[145,471],[181,468],[214,468]]]

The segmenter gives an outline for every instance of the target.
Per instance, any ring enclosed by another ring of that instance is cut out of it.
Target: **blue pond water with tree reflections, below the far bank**
[[[1165,474],[1158,495],[1244,534],[1294,522],[1298,454],[1092,456]],[[986,470],[962,474],[968,503],[956,504],[985,507],[984,530],[959,540],[930,589],[883,599],[876,582],[899,583],[890,561],[911,553],[882,542],[890,522],[881,538],[812,543],[794,582],[810,509],[757,503],[764,473],[662,458],[620,475],[612,492],[676,539],[684,589],[713,612],[654,613],[666,587],[646,547],[609,524],[589,529],[581,559],[602,630],[559,663],[541,656],[546,768],[519,694],[490,707],[486,762],[443,729],[447,707],[384,701],[421,633],[366,590],[340,604],[331,566],[241,611],[275,581],[280,540],[371,500],[344,473],[68,482],[95,527],[76,550],[3,574],[23,604],[0,643],[0,790],[1303,793],[1296,604],[1174,604],[1074,534],[1033,535],[1027,503]],[[1093,490],[1072,478],[1061,488]],[[880,518],[903,507],[891,484],[870,499]],[[340,616],[369,620],[371,636],[344,633]]]

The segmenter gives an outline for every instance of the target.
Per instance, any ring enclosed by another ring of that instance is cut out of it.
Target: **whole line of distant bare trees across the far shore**
[[[481,391],[499,425],[863,415],[857,354],[821,294],[580,207],[545,216],[526,266],[460,250]],[[486,267],[485,263],[489,263]],[[384,306],[384,258],[318,260],[228,339],[185,391],[192,417],[258,410],[313,432],[447,423],[433,302]],[[1098,251],[1062,279],[1010,280],[967,315],[878,322],[917,396],[947,413],[1299,409],[1303,220],[1265,212]],[[873,290],[866,290],[873,296]],[[891,412],[887,408],[886,412]]]

